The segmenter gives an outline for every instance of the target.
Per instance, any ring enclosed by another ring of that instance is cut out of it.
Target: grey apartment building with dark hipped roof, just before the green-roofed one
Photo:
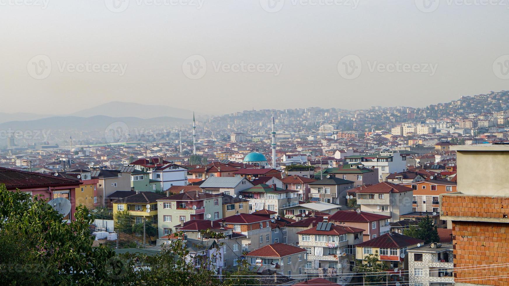
[[[354,182],[331,175],[316,182],[309,183],[310,201],[330,204],[346,203],[346,192],[354,188]]]

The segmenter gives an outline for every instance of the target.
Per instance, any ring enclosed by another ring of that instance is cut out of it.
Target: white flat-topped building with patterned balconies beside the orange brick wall
[[[410,285],[454,285],[453,244],[431,243],[408,249],[407,253]]]

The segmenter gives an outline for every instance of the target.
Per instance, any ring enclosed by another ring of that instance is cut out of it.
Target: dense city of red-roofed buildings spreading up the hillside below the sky
[[[178,245],[172,260],[223,283],[506,285],[509,176],[494,163],[509,156],[508,104],[501,91],[425,108],[190,111],[46,140],[5,122],[0,188],[49,200],[52,223],[88,210],[82,235],[142,283]]]

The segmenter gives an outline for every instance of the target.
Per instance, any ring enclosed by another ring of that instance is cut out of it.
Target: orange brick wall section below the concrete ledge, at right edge
[[[453,221],[454,267],[478,268],[456,268],[455,280],[482,285],[509,285],[509,277],[486,277],[509,275],[509,264],[490,268],[479,266],[509,263],[508,233],[508,223]],[[487,279],[479,280],[482,277]]]

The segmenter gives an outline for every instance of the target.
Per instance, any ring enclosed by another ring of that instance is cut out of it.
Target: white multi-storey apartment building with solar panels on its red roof
[[[325,274],[324,277],[334,283],[350,282],[351,277],[328,277],[327,274],[350,273],[355,265],[355,245],[362,242],[363,231],[325,221],[298,232],[299,246],[306,250],[306,273]]]

